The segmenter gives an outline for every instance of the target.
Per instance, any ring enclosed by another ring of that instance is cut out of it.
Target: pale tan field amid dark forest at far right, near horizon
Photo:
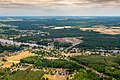
[[[120,27],[111,27],[111,28],[92,27],[92,28],[80,28],[80,30],[83,30],[83,31],[92,30],[92,31],[99,32],[102,34],[111,34],[111,35],[120,34]]]

